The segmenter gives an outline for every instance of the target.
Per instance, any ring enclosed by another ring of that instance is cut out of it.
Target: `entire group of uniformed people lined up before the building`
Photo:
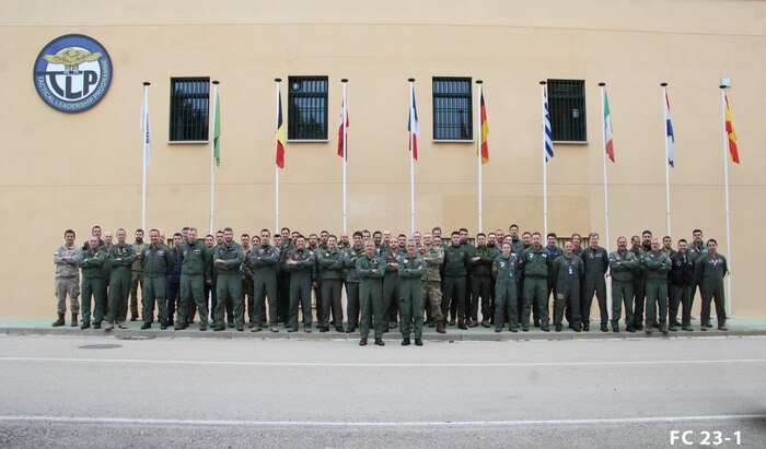
[[[536,232],[520,236],[515,224],[508,234],[479,233],[474,243],[466,228],[443,241],[440,227],[409,237],[358,231],[350,239],[347,233],[338,238],[322,231],[306,237],[283,227],[274,236],[268,229],[242,234],[239,243],[230,227],[202,239],[194,227],[171,240],[158,229],[149,232],[148,243],[142,229],[136,229],[134,244],[126,241],[124,228],[114,236],[116,243],[112,233],[94,226],[79,247],[76,233],[65,232],[65,244],[54,251],[54,327],[65,326],[69,297],[70,326],[101,329],[105,322],[106,331],[126,329],[128,308],[130,320],[139,319],[140,292],[141,329],[156,321],[163,330],[184,330],[198,315],[200,331],[242,332],[247,326],[252,332],[279,332],[282,324],[295,332],[300,308],[303,331],[312,332],[315,304],[320,332],[358,328],[360,345],[368,344],[371,332],[374,344],[384,345],[383,334],[398,326],[402,344],[409,345],[414,336],[419,346],[425,326],[440,333],[448,326],[501,332],[506,324],[511,332],[526,332],[532,322],[560,332],[566,318],[574,332],[588,332],[595,297],[602,332],[610,326],[619,332],[623,320],[628,332],[659,329],[666,334],[693,330],[690,310],[699,290],[700,330],[712,328],[712,302],[718,329],[727,330],[727,260],[715,239],[703,241],[700,229],[692,233],[690,243],[680,239],[675,249],[670,237],[653,238],[650,231],[632,236],[629,245],[620,236],[612,253],[599,246],[596,233],[585,246],[573,234],[559,247],[556,234],[545,241]]]

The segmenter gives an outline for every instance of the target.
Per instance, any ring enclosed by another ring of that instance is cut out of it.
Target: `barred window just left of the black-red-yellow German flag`
[[[469,78],[433,78],[433,140],[473,140]]]

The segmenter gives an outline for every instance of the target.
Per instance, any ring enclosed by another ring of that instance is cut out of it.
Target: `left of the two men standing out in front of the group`
[[[381,279],[385,272],[385,260],[375,255],[375,244],[373,240],[364,241],[364,253],[357,258],[357,274],[359,284],[359,308],[361,309],[359,333],[360,346],[367,345],[367,338],[370,333],[370,319],[373,319],[375,345],[383,346],[383,304],[381,295],[383,285]]]

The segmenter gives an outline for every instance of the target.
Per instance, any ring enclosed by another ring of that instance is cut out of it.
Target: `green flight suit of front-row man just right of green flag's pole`
[[[242,298],[242,281],[240,281],[240,267],[245,260],[245,251],[242,245],[236,241],[223,243],[212,250],[211,256],[213,267],[218,269],[216,280],[216,311],[213,322],[218,326],[225,326],[223,314],[227,303],[231,302],[234,307],[234,324],[236,330],[244,328],[245,305]],[[216,263],[216,260],[223,260],[223,263]]]

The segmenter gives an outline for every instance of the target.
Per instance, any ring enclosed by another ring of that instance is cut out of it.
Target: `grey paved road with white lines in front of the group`
[[[0,447],[764,447],[765,343],[4,335]]]

